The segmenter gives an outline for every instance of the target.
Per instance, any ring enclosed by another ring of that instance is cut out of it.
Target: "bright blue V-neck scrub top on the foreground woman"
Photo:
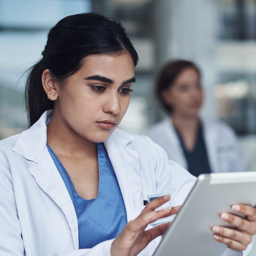
[[[52,159],[68,189],[76,210],[79,249],[115,238],[127,224],[126,210],[116,174],[103,143],[97,143],[99,163],[98,197],[86,200],[78,195],[68,172],[47,143]]]

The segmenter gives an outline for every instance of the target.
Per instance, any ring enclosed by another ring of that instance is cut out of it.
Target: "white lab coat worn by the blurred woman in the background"
[[[212,172],[248,171],[235,132],[228,125],[218,121],[201,121]],[[169,159],[188,169],[180,140],[169,118],[153,125],[145,134],[165,150]]]

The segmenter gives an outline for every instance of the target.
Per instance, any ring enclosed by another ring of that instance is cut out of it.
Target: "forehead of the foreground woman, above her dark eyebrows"
[[[134,76],[134,62],[130,53],[89,55],[77,72],[83,76],[100,75],[111,79],[129,79]]]

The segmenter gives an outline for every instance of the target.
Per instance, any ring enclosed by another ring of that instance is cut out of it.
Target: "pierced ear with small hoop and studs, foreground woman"
[[[44,69],[41,79],[42,79],[42,85],[44,88],[44,92],[46,93],[48,99],[49,100],[57,100],[58,84],[52,78],[49,69]]]

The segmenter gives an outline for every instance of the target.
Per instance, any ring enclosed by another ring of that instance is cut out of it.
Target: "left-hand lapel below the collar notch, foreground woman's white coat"
[[[76,212],[68,190],[47,148],[38,164],[28,169],[38,186],[52,198],[65,214],[71,229],[74,246],[78,249],[78,224]]]

